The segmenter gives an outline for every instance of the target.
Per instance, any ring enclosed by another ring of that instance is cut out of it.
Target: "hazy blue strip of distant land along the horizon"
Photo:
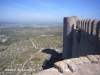
[[[20,23],[20,22],[0,22],[0,28],[5,27],[52,27],[52,26],[62,26],[62,23],[56,22],[28,22],[28,23]]]

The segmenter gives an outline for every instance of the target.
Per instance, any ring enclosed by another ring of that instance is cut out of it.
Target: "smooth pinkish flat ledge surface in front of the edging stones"
[[[100,75],[100,64],[83,64],[77,67],[76,72],[60,73],[57,69],[50,68],[32,75]]]

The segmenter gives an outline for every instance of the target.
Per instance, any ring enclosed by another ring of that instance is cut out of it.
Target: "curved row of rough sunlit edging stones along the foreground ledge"
[[[54,63],[54,67],[57,68],[60,72],[76,72],[78,71],[78,66],[85,64],[99,64],[100,55],[87,55],[81,56],[79,58],[65,59]]]

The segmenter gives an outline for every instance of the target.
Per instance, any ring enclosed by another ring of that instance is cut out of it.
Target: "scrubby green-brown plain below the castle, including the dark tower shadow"
[[[0,44],[0,72],[5,75],[34,74],[53,67],[54,62],[61,60],[61,26],[0,30],[1,35],[10,37]]]

